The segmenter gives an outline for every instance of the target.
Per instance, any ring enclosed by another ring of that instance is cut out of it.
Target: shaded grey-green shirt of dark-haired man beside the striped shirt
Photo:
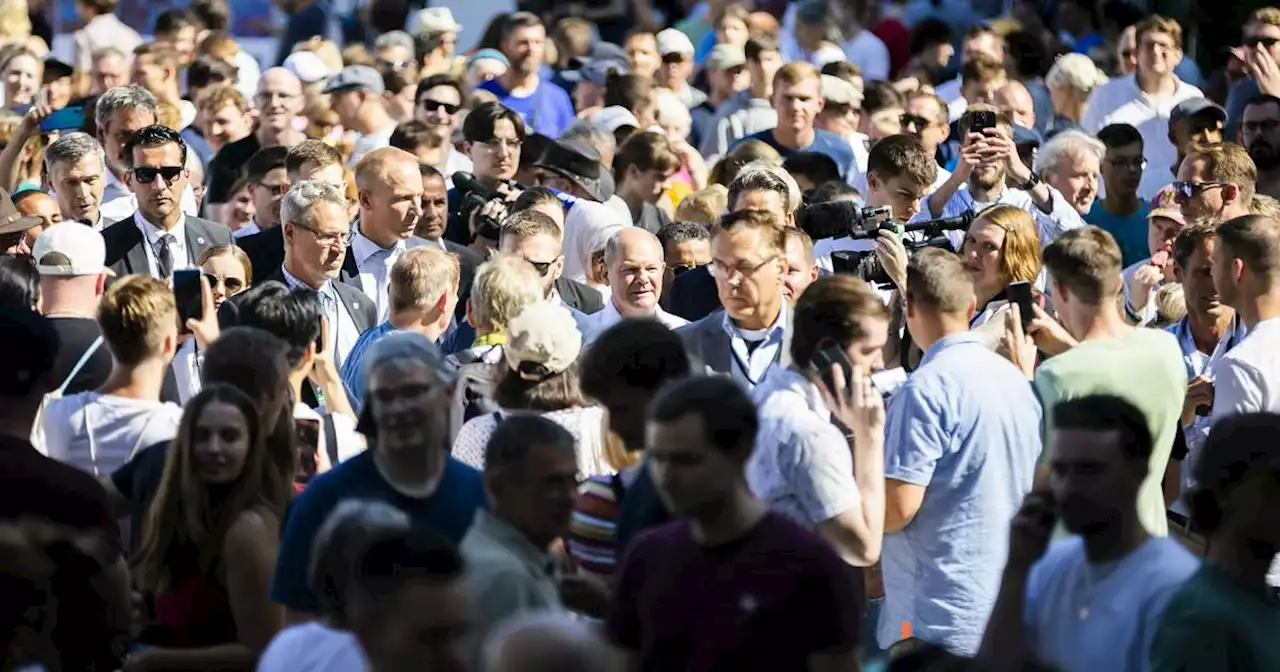
[[[466,567],[465,585],[480,611],[477,643],[518,613],[563,609],[557,559],[488,511],[476,512],[458,552]]]

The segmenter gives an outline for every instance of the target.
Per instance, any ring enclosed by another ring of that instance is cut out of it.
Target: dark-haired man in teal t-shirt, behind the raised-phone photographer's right
[[[1143,260],[1147,251],[1147,201],[1138,197],[1138,183],[1147,160],[1142,156],[1142,133],[1129,124],[1111,124],[1098,131],[1106,147],[1102,155],[1102,184],[1106,195],[1093,201],[1084,221],[1110,233],[1124,265]]]

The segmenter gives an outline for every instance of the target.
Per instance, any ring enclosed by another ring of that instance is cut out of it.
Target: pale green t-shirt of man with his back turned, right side
[[[1138,490],[1138,517],[1153,536],[1169,534],[1161,481],[1179,430],[1187,370],[1178,339],[1162,329],[1134,329],[1120,338],[1085,340],[1052,357],[1036,371],[1036,394],[1044,407],[1044,452],[1048,463],[1053,406],[1089,394],[1111,394],[1147,416],[1156,444],[1147,479]]]

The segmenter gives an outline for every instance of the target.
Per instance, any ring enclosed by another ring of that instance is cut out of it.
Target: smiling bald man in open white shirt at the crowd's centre
[[[667,270],[666,255],[658,237],[640,227],[627,227],[609,238],[604,246],[605,282],[609,301],[604,310],[588,315],[584,343],[591,343],[608,328],[627,319],[658,320],[667,329],[689,324],[658,306],[662,296],[662,278]]]

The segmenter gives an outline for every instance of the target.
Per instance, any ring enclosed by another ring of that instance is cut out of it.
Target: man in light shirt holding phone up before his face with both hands
[[[970,132],[979,114],[996,114],[996,127],[982,133]],[[1036,218],[1041,246],[1053,242],[1064,232],[1084,225],[1080,214],[1059,193],[1041,182],[1021,159],[1012,141],[1012,123],[1009,115],[989,105],[970,105],[960,118],[960,157],[951,178],[925,200],[925,207],[914,218],[928,220],[956,216],[961,212],[980,212],[989,205],[1011,205],[1029,211]],[[1005,179],[1020,188],[1005,186]]]

